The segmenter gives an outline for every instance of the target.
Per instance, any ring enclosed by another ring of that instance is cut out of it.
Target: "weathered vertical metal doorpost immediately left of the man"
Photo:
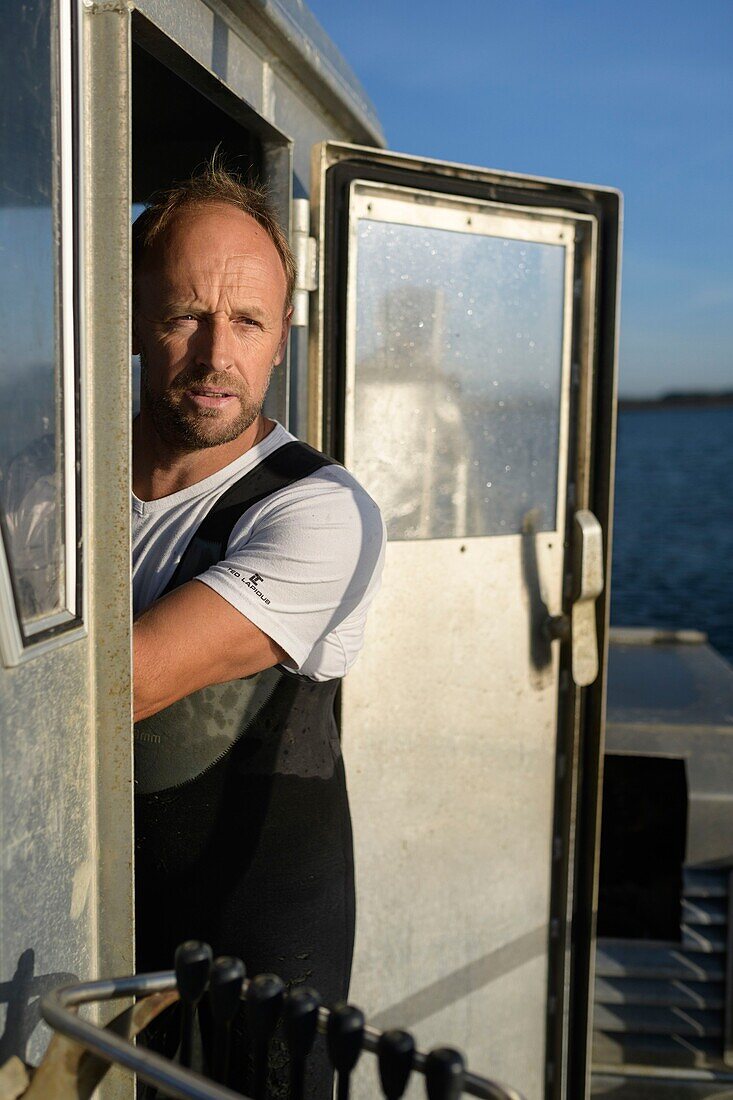
[[[95,944],[81,974],[134,967],[130,597],[130,12],[85,12],[84,234]],[[110,1075],[106,1097],[131,1094]]]

